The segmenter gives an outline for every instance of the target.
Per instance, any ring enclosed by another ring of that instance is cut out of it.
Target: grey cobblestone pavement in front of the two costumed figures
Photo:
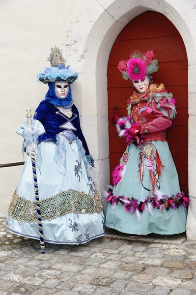
[[[0,295],[196,295],[196,241],[107,235],[80,246],[10,234],[0,218]]]

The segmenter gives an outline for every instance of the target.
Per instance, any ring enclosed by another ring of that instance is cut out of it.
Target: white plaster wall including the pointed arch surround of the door
[[[55,5],[58,3],[58,5]],[[189,60],[189,189],[193,214],[187,235],[196,239],[196,1],[187,0],[1,0],[0,1],[0,163],[22,161],[22,138],[15,134],[47,86],[35,76],[48,65],[51,45],[63,49],[69,64],[80,73],[73,97],[82,115],[84,136],[95,158],[99,188],[109,183],[107,63],[112,44],[133,18],[146,10],[163,13],[179,30]],[[0,215],[4,216],[20,168],[0,169]],[[195,209],[194,209],[195,208]],[[191,212],[191,210],[190,210]]]

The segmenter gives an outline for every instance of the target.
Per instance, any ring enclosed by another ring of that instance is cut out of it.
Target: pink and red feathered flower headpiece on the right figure
[[[130,59],[120,60],[117,67],[125,80],[142,80],[145,76],[158,71],[158,60],[154,58],[153,50],[144,53],[140,50],[135,50],[131,53]]]

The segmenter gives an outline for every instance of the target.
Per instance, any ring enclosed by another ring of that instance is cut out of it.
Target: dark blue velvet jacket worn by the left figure
[[[35,110],[35,115],[33,117],[39,120],[45,128],[45,133],[38,137],[38,142],[53,140],[56,143],[56,134],[64,130],[61,128],[64,123],[66,123],[69,118],[63,115],[53,104],[47,100],[42,100]],[[73,131],[76,136],[82,141],[83,148],[85,149],[85,155],[89,155],[89,150],[80,126],[80,118],[78,109],[75,105],[72,106],[72,117],[70,118],[71,123],[77,129]]]

